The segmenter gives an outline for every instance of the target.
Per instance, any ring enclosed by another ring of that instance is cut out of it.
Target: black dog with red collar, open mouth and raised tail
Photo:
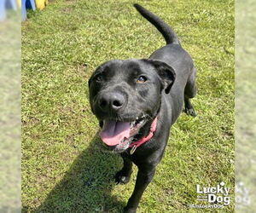
[[[127,183],[132,162],[138,167],[136,186],[125,212],[136,212],[183,102],[185,112],[195,116],[189,101],[196,93],[193,60],[165,22],[142,6],[134,6],[161,32],[166,46],[149,59],[110,60],[89,80],[90,106],[102,127],[102,141],[124,159],[115,181]]]

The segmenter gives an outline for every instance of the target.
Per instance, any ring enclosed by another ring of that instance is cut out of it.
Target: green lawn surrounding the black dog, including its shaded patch
[[[111,59],[165,44],[132,1],[54,1],[22,25],[22,202],[29,212],[120,212],[134,187],[113,176],[90,112],[87,81]],[[169,23],[195,60],[196,118],[182,114],[138,212],[198,212],[195,185],[224,181],[234,210],[234,2],[138,1]],[[217,211],[217,210],[203,210]]]

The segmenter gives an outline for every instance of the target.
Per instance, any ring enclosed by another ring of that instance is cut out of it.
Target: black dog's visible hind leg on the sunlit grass
[[[194,98],[196,95],[196,85],[195,85],[195,74],[196,74],[196,69],[195,67],[192,70],[192,73],[190,74],[188,81],[185,86],[184,90],[184,103],[185,103],[185,112],[190,115],[195,117],[195,109],[192,106],[190,99]]]

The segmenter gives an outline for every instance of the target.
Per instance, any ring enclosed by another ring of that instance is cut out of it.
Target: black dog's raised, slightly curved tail
[[[152,14],[147,9],[144,9],[143,6],[135,3],[133,6],[137,11],[143,15],[143,17],[148,20],[152,25],[158,29],[158,31],[165,37],[166,44],[169,43],[179,43],[177,35],[172,31],[172,28],[168,26],[163,20],[160,20],[158,16]]]

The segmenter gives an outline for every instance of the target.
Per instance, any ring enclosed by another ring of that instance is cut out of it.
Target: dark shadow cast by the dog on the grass
[[[121,168],[117,155],[102,149],[95,135],[63,179],[33,212],[121,212],[125,203],[111,195],[114,174]]]

